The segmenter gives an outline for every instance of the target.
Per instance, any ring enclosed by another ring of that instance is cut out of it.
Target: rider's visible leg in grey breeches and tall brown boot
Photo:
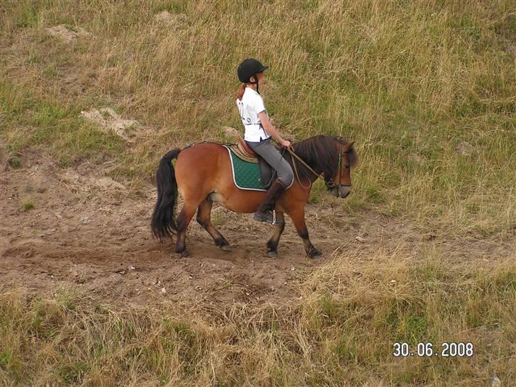
[[[271,211],[274,209],[274,203],[283,193],[283,191],[292,184],[294,174],[290,164],[281,156],[281,153],[276,150],[276,147],[271,144],[271,140],[264,140],[262,142],[247,142],[249,147],[252,147],[254,152],[262,156],[263,159],[276,170],[278,179],[270,186],[269,190],[260,203],[258,210],[254,213],[254,220],[260,222],[273,222],[273,215]]]

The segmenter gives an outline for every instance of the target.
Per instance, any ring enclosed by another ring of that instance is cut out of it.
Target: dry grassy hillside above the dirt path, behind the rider
[[[66,164],[101,150],[118,157],[120,173],[152,179],[169,147],[226,140],[223,125],[240,129],[235,68],[259,57],[271,67],[265,101],[288,137],[357,142],[346,211],[373,208],[476,235],[508,231],[516,224],[515,8],[7,1],[1,138],[11,152],[50,147]],[[174,18],[156,21],[159,11]],[[93,35],[63,43],[45,30],[60,24]],[[147,125],[147,136],[123,147],[79,115],[106,106]]]

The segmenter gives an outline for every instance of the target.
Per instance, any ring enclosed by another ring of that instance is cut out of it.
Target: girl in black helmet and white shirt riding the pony
[[[260,203],[254,220],[273,223],[274,203],[286,188],[293,183],[292,168],[286,159],[272,145],[274,138],[282,147],[289,147],[290,141],[284,140],[269,121],[264,100],[259,94],[259,88],[264,82],[264,66],[259,60],[252,58],[244,60],[237,69],[238,79],[242,82],[237,94],[237,107],[245,128],[244,140],[254,152],[260,155],[278,174]],[[279,223],[279,220],[276,221]]]

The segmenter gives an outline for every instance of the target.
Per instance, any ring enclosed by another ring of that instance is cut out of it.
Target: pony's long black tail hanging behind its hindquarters
[[[152,233],[160,242],[165,237],[172,237],[172,231],[177,230],[174,211],[177,201],[177,181],[172,159],[176,159],[181,150],[174,148],[170,150],[159,161],[156,172],[157,202],[152,213],[150,226]]]

